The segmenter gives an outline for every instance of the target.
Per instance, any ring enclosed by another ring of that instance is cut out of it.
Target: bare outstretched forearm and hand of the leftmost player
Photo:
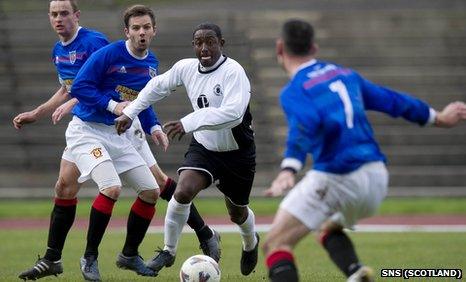
[[[13,118],[13,126],[20,129],[23,125],[33,123],[45,115],[51,114],[55,109],[69,99],[65,87],[60,87],[50,99],[32,111],[20,113]]]

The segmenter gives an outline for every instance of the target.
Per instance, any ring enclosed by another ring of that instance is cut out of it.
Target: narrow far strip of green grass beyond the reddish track
[[[258,216],[273,215],[281,199],[253,198],[251,207]],[[133,199],[120,199],[113,215],[126,217]],[[91,199],[79,201],[77,216],[87,217]],[[195,203],[203,216],[226,215],[225,204],[219,198],[196,199]],[[0,200],[0,219],[5,218],[44,218],[50,215],[51,200]],[[157,216],[163,217],[166,201],[157,203]],[[388,198],[382,203],[380,215],[400,214],[463,214],[466,215],[466,198]]]

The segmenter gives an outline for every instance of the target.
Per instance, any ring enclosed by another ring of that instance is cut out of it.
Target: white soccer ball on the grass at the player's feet
[[[181,282],[217,282],[220,281],[220,268],[217,262],[205,255],[188,258],[180,270]]]

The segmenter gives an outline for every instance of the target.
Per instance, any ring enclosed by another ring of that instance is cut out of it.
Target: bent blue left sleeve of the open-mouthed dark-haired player
[[[79,70],[71,87],[71,96],[80,103],[99,110],[107,110],[111,96],[99,91],[98,85],[102,80],[108,64],[106,53],[95,52]]]

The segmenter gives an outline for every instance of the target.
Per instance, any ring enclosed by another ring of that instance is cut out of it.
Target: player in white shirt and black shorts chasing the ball
[[[203,23],[193,32],[197,59],[184,59],[151,79],[138,98],[116,119],[119,133],[152,103],[184,85],[194,112],[168,122],[169,138],[193,132],[193,139],[179,168],[179,182],[165,217],[165,247],[148,266],[158,272],[175,260],[178,239],[194,197],[218,180],[232,222],[239,226],[243,248],[241,273],[249,275],[257,264],[259,236],[254,213],[248,207],[255,173],[255,145],[249,112],[251,89],[244,69],[222,54],[225,40],[220,28]]]

